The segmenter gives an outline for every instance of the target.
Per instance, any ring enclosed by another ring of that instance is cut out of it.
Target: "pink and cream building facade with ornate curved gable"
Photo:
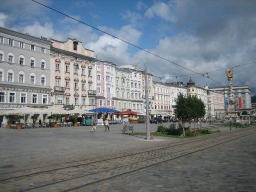
[[[57,108],[95,108],[95,63],[93,50],[77,39],[51,39],[50,76],[52,104]]]

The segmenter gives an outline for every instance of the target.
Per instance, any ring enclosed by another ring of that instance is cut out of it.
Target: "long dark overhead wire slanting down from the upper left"
[[[201,75],[201,74],[198,73],[198,72],[195,72],[195,71],[193,71],[193,70],[191,70],[191,69],[189,69],[189,68],[186,68],[186,67],[184,67],[184,66],[181,66],[181,65],[179,65],[179,64],[177,64],[177,63],[175,63],[175,62],[172,62],[172,61],[170,61],[170,60],[168,60],[168,59],[166,59],[166,58],[164,58],[164,57],[162,57],[162,56],[159,56],[159,55],[157,55],[157,54],[154,54],[154,53],[152,53],[152,52],[150,52],[150,51],[148,51],[148,50],[146,50],[146,49],[144,49],[144,48],[141,48],[141,47],[139,47],[139,46],[137,46],[137,45],[135,45],[135,44],[132,44],[132,43],[126,41],[126,40],[123,40],[123,39],[121,39],[121,38],[119,38],[119,37],[117,37],[117,36],[114,36],[114,35],[112,35],[112,34],[110,34],[110,33],[107,33],[107,32],[105,32],[105,31],[103,31],[103,30],[100,30],[100,29],[98,29],[98,28],[96,28],[96,27],[94,27],[94,26],[92,26],[92,25],[90,25],[90,24],[87,24],[87,23],[85,23],[85,22],[83,22],[83,21],[80,21],[80,20],[78,20],[78,19],[76,19],[76,18],[74,18],[74,17],[72,17],[72,16],[69,16],[69,15],[67,15],[67,14],[65,14],[65,13],[63,13],[63,12],[60,12],[60,11],[54,9],[54,8],[51,8],[51,7],[49,7],[49,6],[45,5],[45,4],[42,4],[42,3],[40,3],[40,2],[37,2],[36,0],[31,0],[31,1],[33,1],[33,2],[35,2],[35,3],[38,3],[38,4],[40,4],[40,5],[42,5],[42,6],[46,7],[46,8],[49,8],[49,9],[55,11],[55,12],[58,12],[59,14],[62,14],[62,15],[64,15],[64,16],[67,16],[67,17],[71,18],[71,19],[74,19],[74,20],[76,20],[76,21],[78,21],[78,22],[80,22],[80,23],[82,23],[82,24],[85,24],[85,25],[87,25],[87,26],[89,26],[89,27],[91,27],[91,28],[94,28],[94,29],[96,29],[96,30],[98,30],[98,31],[100,31],[100,32],[103,32],[103,33],[105,33],[105,34],[108,34],[109,36],[112,36],[112,37],[114,37],[114,38],[116,38],[116,39],[119,39],[119,40],[121,40],[121,41],[123,41],[123,42],[125,42],[125,43],[127,43],[127,44],[129,44],[129,45],[131,45],[131,46],[134,46],[134,47],[136,47],[136,48],[138,48],[138,49],[140,49],[140,50],[143,50],[143,51],[145,51],[145,52],[147,52],[147,53],[149,53],[149,54],[152,54],[152,55],[154,55],[154,56],[156,56],[156,57],[158,57],[158,58],[161,58],[161,59],[166,60],[166,61],[168,61],[168,62],[170,62],[170,63],[172,63],[172,64],[175,64],[175,65],[180,66],[180,67],[182,67],[182,68],[184,68],[184,69],[187,69],[187,70],[189,70],[189,71],[191,71],[191,72],[194,72],[194,73],[196,73],[196,74]],[[211,80],[213,80],[213,81],[215,81],[215,82],[217,82],[217,83],[219,83],[219,84],[222,84],[221,82],[218,82],[218,81],[216,81],[216,80],[214,80],[214,79],[212,79],[212,78],[210,78],[210,77],[206,77],[206,76],[204,76],[204,75],[201,75],[201,76],[203,76],[203,77],[205,77],[205,78],[209,78],[209,79],[211,79]],[[224,84],[222,84],[222,85],[224,85]],[[224,86],[225,86],[225,85],[224,85]]]

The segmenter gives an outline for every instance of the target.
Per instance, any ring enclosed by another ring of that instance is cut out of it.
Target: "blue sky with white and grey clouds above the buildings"
[[[256,61],[255,0],[37,1],[225,85],[225,70],[210,71]],[[2,3],[0,26],[57,40],[77,38],[98,59],[147,63],[161,80],[187,82],[190,75],[180,75],[193,73],[31,0]],[[249,85],[255,95],[256,63],[233,70],[233,84]],[[198,86],[221,86],[200,75],[191,78]]]

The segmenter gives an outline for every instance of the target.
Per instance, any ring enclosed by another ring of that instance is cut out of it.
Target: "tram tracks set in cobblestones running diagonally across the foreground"
[[[77,189],[77,187],[81,188],[96,182],[121,176],[253,133],[255,133],[254,129],[239,130],[201,139],[191,139],[188,142],[175,143],[152,150],[144,150],[136,153],[131,152],[129,154],[122,153],[123,155],[120,153],[112,158],[4,178],[0,180],[0,187],[1,185],[8,185],[8,187],[15,189],[15,191],[47,191],[52,185],[60,185],[61,191],[70,191]],[[102,162],[104,163],[101,164]],[[122,164],[125,164],[125,166]],[[84,182],[84,179],[86,183],[78,186],[74,185],[74,183]],[[26,184],[28,180],[33,183],[33,186],[27,187]],[[74,180],[77,181],[73,182]],[[11,187],[11,184],[17,181],[20,183],[18,188]],[[71,187],[65,189],[63,185]]]

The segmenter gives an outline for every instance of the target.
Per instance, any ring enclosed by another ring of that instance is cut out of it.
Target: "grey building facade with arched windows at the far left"
[[[0,27],[0,112],[50,106],[50,45],[45,37]]]

